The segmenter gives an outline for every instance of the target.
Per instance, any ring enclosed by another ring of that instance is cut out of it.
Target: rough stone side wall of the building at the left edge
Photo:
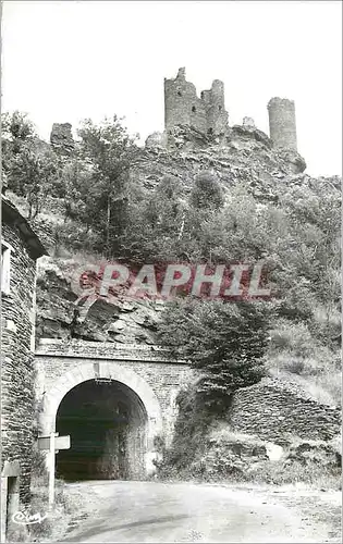
[[[10,292],[2,295],[1,316],[1,436],[4,463],[17,462],[20,495],[29,496],[34,422],[34,288],[36,261],[17,228],[2,225],[2,239],[12,246]]]

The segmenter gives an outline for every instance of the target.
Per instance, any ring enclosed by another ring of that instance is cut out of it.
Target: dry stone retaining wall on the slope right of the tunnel
[[[341,410],[320,405],[295,384],[265,379],[235,393],[230,424],[281,446],[292,437],[329,441],[340,432]]]

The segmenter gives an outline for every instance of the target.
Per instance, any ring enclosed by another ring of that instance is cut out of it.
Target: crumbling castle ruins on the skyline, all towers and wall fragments
[[[274,148],[297,153],[294,101],[274,97],[269,100],[267,109],[270,144]],[[250,135],[259,133],[259,137],[264,136],[249,116],[243,118],[242,126]],[[186,81],[185,67],[179,69],[174,79],[164,77],[164,131],[150,134],[146,139],[146,146],[172,148],[176,127],[193,128],[209,139],[219,138],[217,141],[225,147],[232,138],[232,127],[229,126],[229,113],[225,110],[223,82],[213,79],[211,88],[203,90],[199,98],[195,85]],[[54,123],[50,143],[56,151],[62,154],[71,153],[75,145],[72,125]],[[302,161],[305,164],[303,159]],[[303,170],[302,165],[301,171]]]

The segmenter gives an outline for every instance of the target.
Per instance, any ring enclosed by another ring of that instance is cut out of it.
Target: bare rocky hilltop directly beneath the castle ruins
[[[301,174],[305,169],[301,154],[274,148],[271,139],[255,126],[235,125],[225,136],[211,136],[179,125],[169,135],[168,147],[160,133],[147,138],[134,175],[148,188],[161,175],[173,175],[186,190],[195,174],[213,170],[223,187],[229,189],[243,182],[256,196],[268,199],[274,196],[275,181]]]

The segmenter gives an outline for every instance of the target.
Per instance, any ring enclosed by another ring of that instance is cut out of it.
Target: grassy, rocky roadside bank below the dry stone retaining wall
[[[336,454],[341,454],[342,449],[339,437],[324,443],[290,436],[290,447],[279,447],[278,455],[272,455],[275,454],[274,444],[232,432],[228,424],[222,423],[208,430],[203,437],[206,447],[189,456],[192,460],[186,465],[176,467],[169,462],[161,467],[158,474],[169,481],[342,489],[336,460]]]

